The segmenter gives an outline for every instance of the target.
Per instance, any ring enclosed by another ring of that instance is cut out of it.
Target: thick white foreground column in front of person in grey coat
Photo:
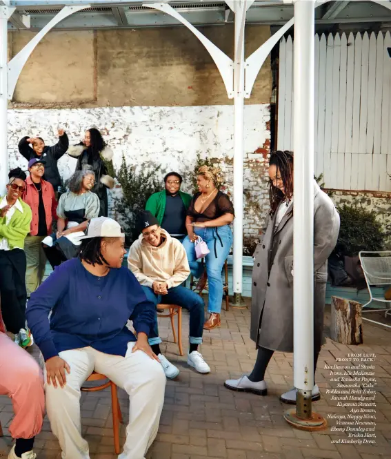
[[[299,395],[314,387],[314,35],[314,0],[299,0],[294,3],[293,130],[294,387]]]

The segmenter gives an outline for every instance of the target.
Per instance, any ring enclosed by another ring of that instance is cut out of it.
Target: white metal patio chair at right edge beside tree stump
[[[374,313],[384,311],[384,317],[391,315],[391,301],[385,300],[384,297],[374,296],[371,287],[373,286],[387,286],[391,285],[391,251],[382,252],[366,252],[361,251],[359,253],[359,260],[361,262],[361,268],[363,270],[365,281],[368,286],[368,292],[370,294],[370,300],[363,305],[363,313]],[[364,311],[364,308],[368,306],[372,301],[385,303],[385,308],[382,309],[370,309]],[[379,324],[391,328],[390,325],[382,324],[375,320],[369,320],[374,324]]]

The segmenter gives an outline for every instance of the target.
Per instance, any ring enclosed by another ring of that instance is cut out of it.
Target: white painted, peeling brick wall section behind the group
[[[262,208],[267,198],[263,193],[265,159],[262,154],[254,152],[270,141],[268,121],[268,105],[245,106],[245,162],[261,163],[261,173],[257,168],[247,170],[245,166],[244,184],[250,188],[255,186],[252,199],[258,199]],[[116,168],[125,155],[131,165],[161,164],[162,176],[169,170],[186,174],[193,170],[197,153],[201,153],[201,157],[219,159],[228,189],[232,192],[233,126],[233,106],[14,109],[8,112],[9,165],[10,168],[21,166],[27,169],[26,159],[17,148],[19,139],[25,135],[39,135],[47,145],[52,145],[57,141],[57,129],[61,127],[68,133],[70,144],[77,144],[86,129],[96,127],[114,151]],[[72,175],[75,163],[76,160],[67,155],[60,159],[59,170],[65,179]],[[183,189],[190,191],[190,181]],[[250,224],[257,226],[264,217],[250,213],[245,234]],[[258,233],[252,226],[247,234],[254,235],[254,231]]]

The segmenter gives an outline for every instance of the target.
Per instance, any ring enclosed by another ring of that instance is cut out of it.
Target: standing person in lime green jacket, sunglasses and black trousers
[[[0,198],[0,304],[7,331],[22,347],[34,342],[26,328],[26,254],[24,240],[30,232],[32,212],[22,201],[26,174],[16,168],[8,174],[7,194]]]

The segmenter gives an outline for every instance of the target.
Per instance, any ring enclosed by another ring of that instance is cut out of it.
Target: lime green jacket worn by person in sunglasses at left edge
[[[2,199],[0,198],[0,202]],[[11,250],[15,247],[24,247],[24,240],[28,233],[30,233],[32,219],[30,206],[26,202],[23,202],[20,197],[18,200],[23,208],[23,213],[16,208],[8,225],[6,224],[6,217],[0,218],[0,239],[5,237]]]

